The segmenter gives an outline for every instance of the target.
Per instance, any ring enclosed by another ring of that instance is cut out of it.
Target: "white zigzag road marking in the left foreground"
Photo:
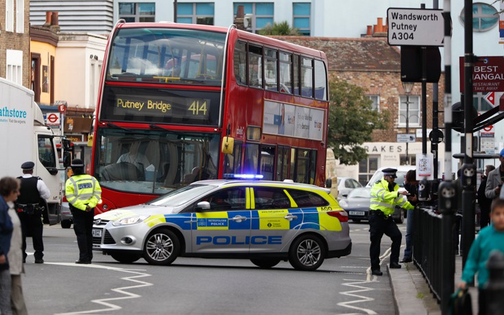
[[[69,264],[69,263],[47,263],[47,264],[53,264],[53,265],[60,265],[60,266],[74,266],[75,264]],[[119,271],[119,272],[128,272],[134,274],[131,277],[123,277],[121,278],[122,280],[127,280],[127,281],[132,281],[134,283],[138,283],[138,285],[130,285],[127,287],[121,287],[121,288],[113,288],[111,289],[114,292],[117,292],[119,294],[124,294],[124,296],[119,296],[115,298],[109,298],[109,299],[97,299],[97,300],[92,300],[91,302],[97,303],[99,305],[104,305],[106,308],[101,308],[99,310],[86,310],[86,311],[79,311],[79,312],[71,312],[71,313],[59,313],[56,315],[81,315],[81,314],[95,314],[95,313],[103,313],[103,312],[111,312],[111,311],[118,311],[122,310],[122,307],[119,305],[115,305],[114,303],[110,303],[111,301],[120,301],[124,299],[135,299],[141,297],[139,294],[135,294],[132,292],[128,292],[126,290],[131,290],[131,289],[137,289],[137,288],[143,288],[143,287],[148,287],[150,285],[153,285],[152,283],[145,282],[145,281],[140,281],[137,280],[137,278],[142,278],[142,277],[150,277],[152,275],[149,275],[148,273],[145,272],[140,272],[136,271],[136,269],[123,269],[123,268],[115,268],[115,267],[110,267],[110,266],[100,266],[100,265],[82,265],[79,267],[84,267],[84,268],[101,268],[101,269],[108,269],[108,270],[114,270],[114,271]]]

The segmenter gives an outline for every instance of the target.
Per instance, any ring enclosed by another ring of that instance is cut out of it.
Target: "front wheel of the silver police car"
[[[180,243],[169,229],[158,229],[147,237],[143,246],[143,258],[152,265],[169,265],[178,255]]]

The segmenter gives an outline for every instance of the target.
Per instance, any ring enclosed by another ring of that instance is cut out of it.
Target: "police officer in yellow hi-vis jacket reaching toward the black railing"
[[[373,275],[381,276],[383,272],[380,270],[380,244],[383,234],[390,237],[392,240],[392,252],[390,253],[390,268],[400,268],[399,250],[400,242],[403,235],[400,233],[396,222],[392,219],[392,213],[397,206],[403,209],[413,209],[413,205],[409,203],[403,195],[407,195],[407,191],[399,192],[399,185],[394,182],[397,170],[394,168],[386,168],[383,170],[383,178],[374,183],[371,189],[371,205],[369,211],[370,224],[370,259],[371,272]]]

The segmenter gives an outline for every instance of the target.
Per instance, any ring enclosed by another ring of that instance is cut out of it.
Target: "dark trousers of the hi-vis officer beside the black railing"
[[[392,240],[392,252],[390,253],[390,262],[399,261],[399,250],[400,250],[400,241],[403,238],[403,235],[400,233],[396,222],[392,219],[392,217],[385,218],[383,215],[377,215],[376,212],[370,214],[369,217],[370,224],[370,258],[371,258],[371,269],[379,270],[380,269],[380,243],[381,237],[383,234],[390,237]]]

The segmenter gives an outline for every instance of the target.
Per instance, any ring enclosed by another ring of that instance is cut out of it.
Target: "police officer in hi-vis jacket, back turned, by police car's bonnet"
[[[73,231],[77,236],[79,259],[75,264],[91,264],[93,259],[93,218],[101,198],[98,180],[84,174],[84,162],[75,159],[71,164],[73,175],[64,185],[65,196],[73,215]]]

